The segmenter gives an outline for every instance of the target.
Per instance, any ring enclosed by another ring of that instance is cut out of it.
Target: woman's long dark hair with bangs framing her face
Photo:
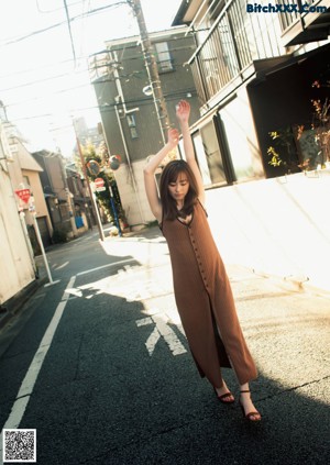
[[[176,201],[168,191],[168,185],[176,182],[180,173],[187,176],[189,190],[185,197],[184,207],[177,210]],[[169,162],[163,169],[160,182],[160,195],[163,207],[163,218],[166,220],[175,220],[178,215],[186,218],[193,213],[194,206],[197,200],[197,182],[190,166],[184,159],[175,159]]]

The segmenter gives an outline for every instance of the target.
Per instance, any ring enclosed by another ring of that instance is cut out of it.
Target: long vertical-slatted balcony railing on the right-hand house
[[[301,24],[302,10],[298,8],[307,4],[304,1],[277,0],[272,13],[249,14],[245,0],[227,0],[189,59],[201,106],[233,79],[244,76],[253,60],[284,55],[286,45],[327,38],[330,15],[329,10],[322,11],[324,5],[326,10],[330,7],[330,0],[309,0],[309,12],[304,13],[306,27],[309,27],[306,31]],[[285,37],[286,31],[289,32]]]

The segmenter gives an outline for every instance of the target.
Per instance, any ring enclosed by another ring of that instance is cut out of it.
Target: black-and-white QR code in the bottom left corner
[[[3,462],[36,462],[36,430],[3,430]]]

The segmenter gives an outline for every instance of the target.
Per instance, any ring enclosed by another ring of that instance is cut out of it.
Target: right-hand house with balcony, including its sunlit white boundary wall
[[[220,187],[208,198],[224,258],[329,289],[330,0],[276,5],[182,2],[173,25],[197,43],[190,130],[206,187]]]

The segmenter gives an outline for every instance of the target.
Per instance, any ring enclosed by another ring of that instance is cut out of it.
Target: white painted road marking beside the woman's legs
[[[166,320],[164,319],[166,318]],[[163,314],[154,314],[152,317],[142,318],[140,320],[136,320],[138,326],[145,326],[147,324],[155,324],[155,328],[153,329],[152,333],[147,337],[145,342],[146,350],[148,352],[148,355],[152,356],[157,342],[160,341],[161,336],[164,337],[164,341],[168,345],[172,355],[180,355],[185,354],[187,351],[183,343],[179,341],[175,332],[172,330],[172,328],[168,326],[168,318]],[[180,330],[180,329],[179,329]],[[185,335],[183,330],[180,332]]]

